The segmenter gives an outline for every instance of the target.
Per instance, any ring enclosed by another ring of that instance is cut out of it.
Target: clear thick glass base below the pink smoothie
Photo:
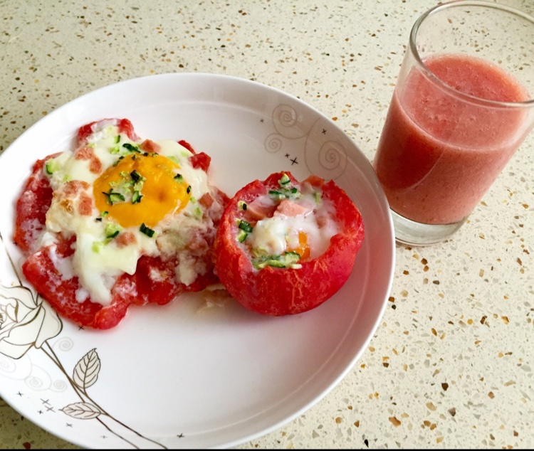
[[[404,216],[400,216],[393,210],[390,210],[393,219],[393,227],[395,231],[395,240],[401,244],[412,246],[426,246],[430,244],[441,243],[441,241],[450,238],[454,235],[456,230],[461,228],[462,224],[466,222],[465,219],[457,223],[434,225],[422,224],[410,221]]]

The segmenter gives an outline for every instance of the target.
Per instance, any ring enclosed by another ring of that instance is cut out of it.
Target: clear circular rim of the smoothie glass
[[[446,3],[442,3],[436,6],[433,6],[432,8],[426,10],[417,20],[415,21],[414,25],[412,26],[412,31],[410,31],[409,34],[409,49],[412,52],[412,55],[414,55],[415,61],[419,68],[422,68],[424,75],[429,78],[432,82],[439,85],[442,89],[454,93],[454,95],[458,97],[463,97],[466,100],[470,100],[471,102],[476,102],[482,105],[488,105],[492,107],[508,107],[508,108],[531,108],[534,107],[534,93],[530,92],[528,90],[529,100],[523,100],[522,102],[499,102],[498,100],[488,100],[483,99],[481,97],[477,97],[476,95],[470,95],[466,94],[465,92],[461,92],[459,90],[454,89],[454,87],[451,87],[450,85],[447,85],[444,83],[439,77],[434,75],[434,73],[426,67],[426,65],[423,63],[423,60],[421,56],[419,55],[419,51],[417,51],[417,45],[416,45],[416,38],[417,38],[417,32],[419,31],[419,27],[423,23],[423,21],[433,14],[439,13],[442,10],[451,9],[457,6],[485,6],[492,9],[498,9],[501,11],[506,11],[507,13],[514,14],[515,16],[519,16],[520,18],[525,19],[526,21],[529,21],[532,23],[532,26],[534,27],[534,17],[530,16],[529,14],[524,13],[523,11],[520,11],[519,9],[513,8],[508,5],[504,4],[498,4],[498,3],[492,3],[490,1],[484,1],[484,0],[451,0],[447,1]],[[533,80],[534,85],[534,80]]]

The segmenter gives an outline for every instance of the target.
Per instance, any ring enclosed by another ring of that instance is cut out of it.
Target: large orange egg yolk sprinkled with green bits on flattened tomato
[[[153,228],[189,202],[191,188],[177,174],[178,164],[164,156],[125,156],[95,180],[95,206],[122,227],[145,223]]]

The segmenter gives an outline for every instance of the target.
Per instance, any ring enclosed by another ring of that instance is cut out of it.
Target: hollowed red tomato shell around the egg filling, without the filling
[[[256,180],[244,186],[226,207],[214,244],[216,275],[226,290],[246,309],[271,316],[306,312],[332,297],[347,282],[364,238],[362,216],[347,193],[333,181],[310,176],[308,182],[321,187],[323,199],[335,206],[342,232],[330,239],[323,255],[302,262],[300,269],[271,266],[254,269],[236,240],[236,220],[244,215],[238,202],[251,203],[268,190],[278,189],[283,174],[288,174],[293,186],[300,186],[288,172],[271,174],[265,181]]]

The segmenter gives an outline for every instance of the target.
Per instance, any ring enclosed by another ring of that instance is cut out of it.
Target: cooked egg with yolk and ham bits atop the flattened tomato
[[[51,245],[63,278],[78,276],[80,302],[108,305],[117,277],[133,274],[142,255],[178,256],[177,281],[189,285],[206,271],[187,250],[195,233],[212,226],[198,202],[209,192],[206,172],[177,142],[144,152],[113,120],[93,128],[84,146],[46,164],[54,193],[41,245]],[[58,233],[76,236],[68,259],[54,251]]]

